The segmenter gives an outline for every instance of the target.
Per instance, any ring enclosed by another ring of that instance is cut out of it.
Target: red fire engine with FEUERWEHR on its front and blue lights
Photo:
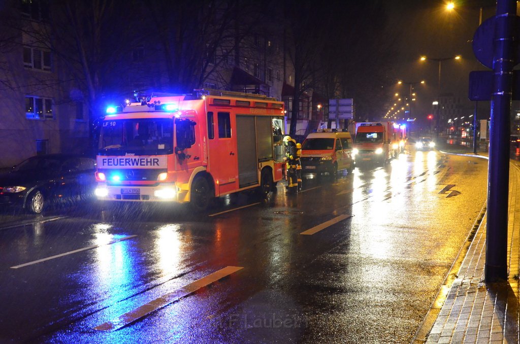
[[[98,200],[189,202],[274,190],[282,178],[283,102],[200,89],[107,109],[100,135]]]

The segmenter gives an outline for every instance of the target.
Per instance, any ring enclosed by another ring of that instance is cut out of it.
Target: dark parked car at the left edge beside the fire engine
[[[73,154],[36,155],[0,175],[0,205],[41,213],[49,205],[93,197],[95,160]]]

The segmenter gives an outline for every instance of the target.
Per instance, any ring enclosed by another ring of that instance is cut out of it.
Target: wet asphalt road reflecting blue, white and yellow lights
[[[207,214],[57,210],[0,230],[0,341],[410,342],[486,180],[487,160],[411,149]]]

